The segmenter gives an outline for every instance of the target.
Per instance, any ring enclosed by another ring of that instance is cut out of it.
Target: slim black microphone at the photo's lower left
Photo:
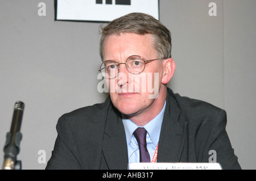
[[[10,132],[6,134],[6,142],[3,150],[5,151],[5,159],[3,162],[3,170],[21,170],[21,161],[16,160],[19,153],[19,144],[22,140],[20,127],[24,111],[24,103],[17,101],[14,105],[13,120],[11,122]]]

